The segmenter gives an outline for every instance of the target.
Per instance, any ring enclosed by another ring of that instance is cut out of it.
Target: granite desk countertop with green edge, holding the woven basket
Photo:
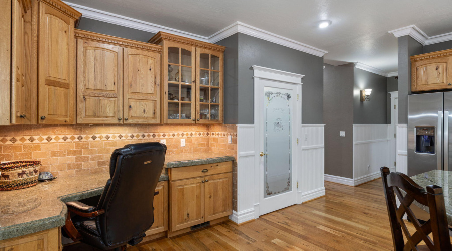
[[[166,169],[159,181],[168,180]],[[63,177],[38,185],[0,192],[0,240],[63,226],[64,202],[100,195],[108,173]]]

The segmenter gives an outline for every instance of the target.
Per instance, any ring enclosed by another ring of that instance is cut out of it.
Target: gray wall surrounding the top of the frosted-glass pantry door
[[[252,65],[305,75],[302,123],[323,123],[323,57],[239,33],[239,124],[254,123]]]

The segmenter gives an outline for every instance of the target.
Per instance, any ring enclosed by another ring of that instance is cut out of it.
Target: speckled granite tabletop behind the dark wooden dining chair
[[[432,170],[410,177],[419,186],[426,188],[429,185],[442,187],[444,203],[446,207],[447,221],[452,225],[452,172],[442,170]],[[414,201],[413,204],[426,212],[430,212],[427,206]]]

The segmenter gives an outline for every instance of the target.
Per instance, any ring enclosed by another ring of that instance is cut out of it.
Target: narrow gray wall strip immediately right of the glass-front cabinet
[[[224,51],[224,123],[239,123],[239,33],[216,44],[226,47]]]

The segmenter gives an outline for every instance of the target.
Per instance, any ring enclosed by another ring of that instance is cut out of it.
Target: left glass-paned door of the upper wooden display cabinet
[[[163,122],[195,123],[196,64],[194,46],[165,41]]]

